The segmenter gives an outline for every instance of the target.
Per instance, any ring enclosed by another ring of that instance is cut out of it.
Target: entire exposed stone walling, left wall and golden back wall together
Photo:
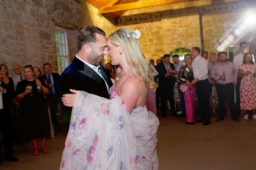
[[[240,41],[247,41],[255,55],[255,26],[236,28],[242,28],[241,16],[255,8],[256,1],[227,1],[230,3],[204,0],[141,8],[126,11],[113,21],[85,0],[1,0],[0,63],[9,67],[11,76],[15,63],[42,67],[49,62],[57,72],[55,26],[68,30],[71,62],[77,53],[77,30],[89,24],[102,28],[107,36],[116,28],[139,29],[141,49],[148,60],[179,47],[198,46],[209,53],[227,51],[227,46]]]

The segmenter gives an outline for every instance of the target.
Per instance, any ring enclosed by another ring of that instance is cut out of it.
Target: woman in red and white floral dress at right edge
[[[239,67],[238,77],[242,77],[240,84],[240,109],[244,110],[244,120],[248,120],[247,111],[252,110],[256,120],[256,65],[252,54],[244,54],[243,64]]]

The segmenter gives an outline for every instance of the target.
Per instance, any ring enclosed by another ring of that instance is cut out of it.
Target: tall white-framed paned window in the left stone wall
[[[67,29],[55,26],[55,41],[57,49],[58,73],[61,74],[69,63],[67,47]]]

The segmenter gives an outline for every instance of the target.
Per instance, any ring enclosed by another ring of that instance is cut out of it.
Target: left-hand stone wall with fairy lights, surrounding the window
[[[70,62],[77,53],[78,28],[94,25],[106,34],[116,27],[84,0],[1,0],[0,63],[12,66],[33,65],[42,68],[49,62],[58,72],[55,25],[67,28]]]

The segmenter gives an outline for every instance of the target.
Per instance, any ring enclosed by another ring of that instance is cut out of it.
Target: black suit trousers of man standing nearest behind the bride
[[[175,112],[175,103],[174,103],[174,89],[173,85],[169,88],[162,89],[160,88],[160,104],[161,104],[161,113],[166,113],[166,101],[169,100],[171,112]]]

